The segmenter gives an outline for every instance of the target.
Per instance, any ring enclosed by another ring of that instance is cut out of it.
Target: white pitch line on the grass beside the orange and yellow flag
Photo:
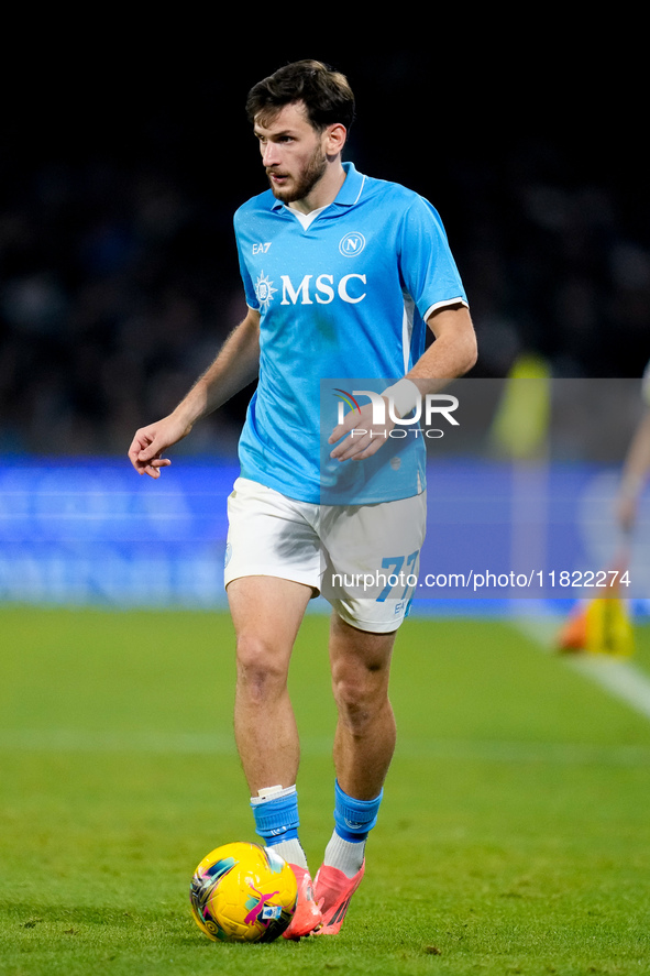
[[[542,650],[554,650],[554,638],[562,622],[555,617],[532,619],[521,617],[514,621],[526,637]],[[626,702],[639,714],[650,719],[650,678],[634,661],[594,654],[558,655],[568,667],[595,681],[614,698]]]

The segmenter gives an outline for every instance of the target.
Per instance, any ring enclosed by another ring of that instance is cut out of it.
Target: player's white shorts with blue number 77
[[[224,583],[268,575],[310,586],[353,627],[396,630],[417,584],[426,492],[375,505],[296,502],[238,478],[228,498]]]

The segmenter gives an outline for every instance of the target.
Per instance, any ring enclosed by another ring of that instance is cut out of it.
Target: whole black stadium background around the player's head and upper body
[[[126,44],[129,25],[113,41],[99,15],[79,42],[60,23],[56,43],[23,29],[10,52],[8,36],[0,452],[123,454],[212,360],[245,310],[232,216],[265,188],[246,92],[305,56],[355,91],[346,158],[440,211],[478,333],[474,375],[503,376],[521,352],[558,376],[641,375],[647,85],[629,40],[558,30],[533,53],[532,19],[498,46],[498,24],[473,45],[433,24],[417,48],[382,50],[278,42],[251,20],[245,43],[169,22],[165,43]],[[229,452],[249,394],[187,449]]]

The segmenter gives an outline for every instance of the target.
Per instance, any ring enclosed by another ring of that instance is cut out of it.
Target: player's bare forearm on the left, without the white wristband
[[[217,359],[197,380],[174,414],[191,427],[252,383],[260,363],[260,322],[250,312],[231,332]]]

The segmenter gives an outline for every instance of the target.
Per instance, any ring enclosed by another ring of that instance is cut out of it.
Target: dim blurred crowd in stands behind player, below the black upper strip
[[[217,153],[197,178],[174,152],[183,133],[156,119],[165,134],[132,153],[48,153],[33,139],[0,158],[3,454],[123,454],[244,314],[232,213],[263,189],[263,174],[250,179],[254,144],[230,150],[228,173]],[[440,209],[478,332],[476,375],[537,352],[559,376],[640,376],[650,207],[614,156],[585,172],[575,140],[537,132],[497,146],[486,130],[434,155],[378,154],[362,121],[349,155]],[[229,453],[249,394],[187,449]]]

